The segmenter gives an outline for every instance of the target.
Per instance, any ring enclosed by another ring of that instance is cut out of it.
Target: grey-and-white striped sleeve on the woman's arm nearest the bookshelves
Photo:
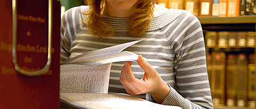
[[[201,23],[193,14],[181,15],[179,36],[170,41],[174,48],[175,89],[170,87],[163,105],[182,108],[213,108],[210,83],[206,69],[206,54]],[[147,94],[146,99],[154,102]]]

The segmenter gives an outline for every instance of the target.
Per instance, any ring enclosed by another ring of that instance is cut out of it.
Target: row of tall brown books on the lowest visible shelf
[[[214,106],[255,108],[255,54],[207,55],[207,72]]]

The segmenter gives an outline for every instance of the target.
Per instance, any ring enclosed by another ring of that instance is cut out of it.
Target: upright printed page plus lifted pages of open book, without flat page
[[[141,40],[97,49],[60,65],[60,93],[108,93],[111,63],[137,61],[138,54],[124,51]]]

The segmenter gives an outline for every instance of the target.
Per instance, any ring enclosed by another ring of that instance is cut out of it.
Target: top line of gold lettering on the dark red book
[[[31,21],[31,22],[38,22],[38,23],[45,23],[46,20],[44,18],[40,18],[39,16],[38,17],[35,17],[35,16],[26,16],[26,15],[18,15],[18,19],[19,20],[23,20],[23,21]]]

